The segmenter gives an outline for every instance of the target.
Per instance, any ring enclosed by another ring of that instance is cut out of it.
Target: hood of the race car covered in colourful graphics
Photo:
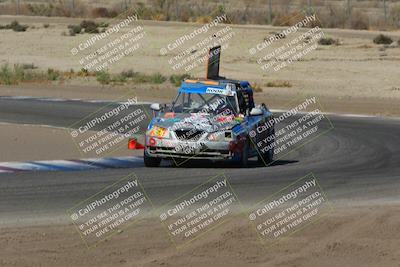
[[[168,130],[197,129],[205,132],[216,132],[232,129],[243,121],[242,118],[199,113],[163,113],[155,118],[154,125]]]

